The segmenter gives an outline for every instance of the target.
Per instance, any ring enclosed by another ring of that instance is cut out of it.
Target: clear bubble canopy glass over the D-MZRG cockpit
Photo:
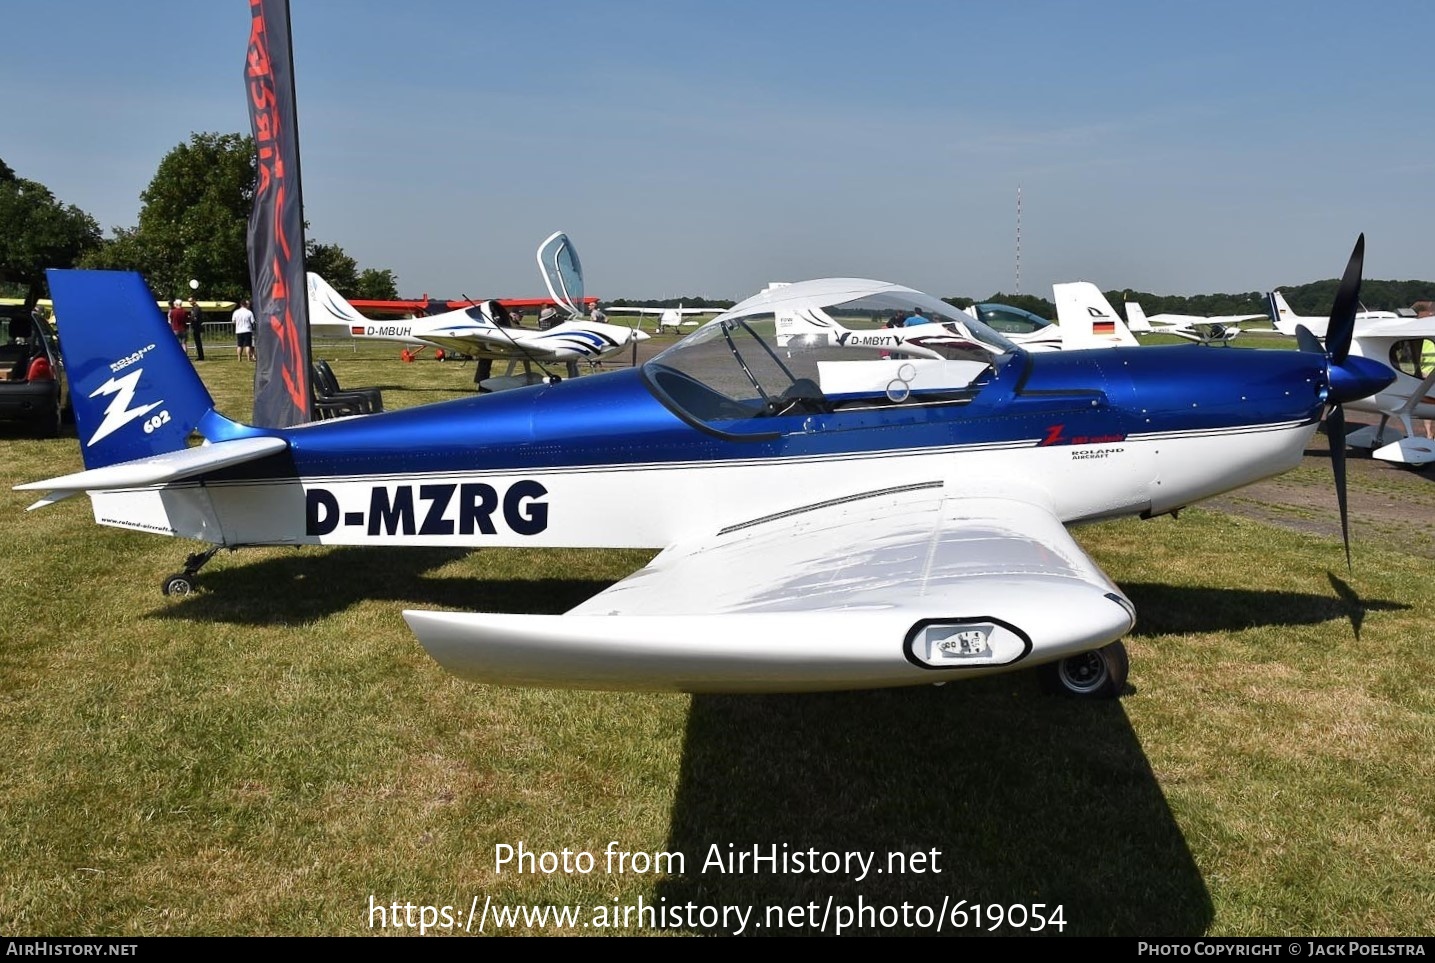
[[[647,383],[684,418],[740,432],[742,422],[785,415],[966,402],[996,363],[1020,353],[966,313],[908,288],[835,304],[792,288],[801,286],[771,306],[745,301],[651,359]]]

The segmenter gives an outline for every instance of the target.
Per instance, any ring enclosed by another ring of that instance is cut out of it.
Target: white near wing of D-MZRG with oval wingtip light
[[[502,685],[798,692],[949,682],[1096,649],[1131,603],[1046,508],[941,482],[753,518],[564,616],[405,611]]]

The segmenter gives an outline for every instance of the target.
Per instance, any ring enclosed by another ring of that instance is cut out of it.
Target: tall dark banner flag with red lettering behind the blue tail
[[[310,421],[313,408],[288,0],[250,0],[244,86],[258,159],[250,211],[250,284],[258,354],[254,423],[283,428]]]

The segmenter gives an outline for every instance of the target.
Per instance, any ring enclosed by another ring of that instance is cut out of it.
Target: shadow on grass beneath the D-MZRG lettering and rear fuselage
[[[205,568],[199,573],[198,593],[156,606],[149,614],[255,626],[303,624],[372,598],[408,607],[560,614],[611,584],[583,578],[509,581],[428,574],[468,554],[466,548],[296,550],[253,564]]]

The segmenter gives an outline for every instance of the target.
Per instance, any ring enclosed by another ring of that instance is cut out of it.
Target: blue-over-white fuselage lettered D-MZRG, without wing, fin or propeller
[[[1323,385],[1314,354],[1108,349],[1013,356],[961,402],[703,423],[629,369],[294,429],[231,423],[232,438],[290,448],[92,498],[102,524],[225,545],[659,548],[928,484],[1081,522],[1162,514],[1287,471]]]

